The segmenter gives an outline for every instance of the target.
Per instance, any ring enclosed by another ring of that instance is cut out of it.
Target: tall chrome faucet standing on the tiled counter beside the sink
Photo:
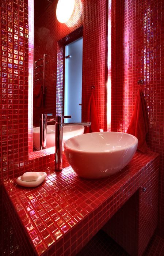
[[[66,125],[83,125],[90,126],[91,123],[64,123],[64,118],[71,118],[71,116],[56,116],[55,117],[55,170],[62,170],[62,137],[63,127]]]

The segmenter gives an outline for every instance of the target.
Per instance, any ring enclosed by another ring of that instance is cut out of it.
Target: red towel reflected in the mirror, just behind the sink
[[[85,133],[100,131],[93,91],[88,102],[87,121],[91,122],[91,126],[85,129]]]

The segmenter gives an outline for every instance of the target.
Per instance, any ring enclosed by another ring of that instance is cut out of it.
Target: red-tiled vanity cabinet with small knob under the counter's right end
[[[157,226],[158,169],[103,226],[131,256],[141,256]]]

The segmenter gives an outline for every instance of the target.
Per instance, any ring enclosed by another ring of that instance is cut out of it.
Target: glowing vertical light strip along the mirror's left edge
[[[33,134],[34,0],[28,0],[28,134]],[[28,137],[29,152],[33,136]]]

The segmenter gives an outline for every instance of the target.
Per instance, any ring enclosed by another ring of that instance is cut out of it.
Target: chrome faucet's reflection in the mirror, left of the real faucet
[[[47,118],[47,114],[40,114],[40,150],[47,147],[47,123],[53,121],[55,118]]]

